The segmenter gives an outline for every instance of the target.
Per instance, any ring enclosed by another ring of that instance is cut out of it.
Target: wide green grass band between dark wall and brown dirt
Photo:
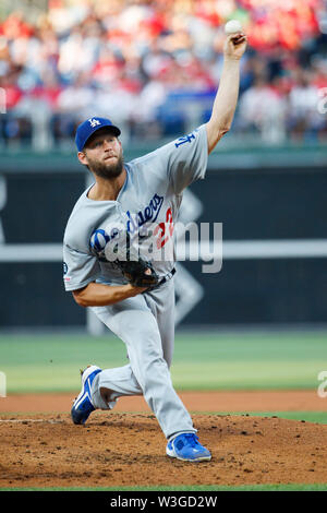
[[[314,390],[327,370],[326,333],[178,334],[172,380],[186,390]],[[117,337],[1,336],[0,371],[7,391],[73,392],[78,369],[125,365]]]

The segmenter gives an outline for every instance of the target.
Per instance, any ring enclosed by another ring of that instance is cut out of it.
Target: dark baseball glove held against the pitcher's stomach
[[[117,260],[113,263],[119,267],[126,281],[134,287],[154,288],[159,283],[159,276],[153,264],[140,255],[140,252],[132,246],[128,235],[126,246],[116,246],[114,253]]]

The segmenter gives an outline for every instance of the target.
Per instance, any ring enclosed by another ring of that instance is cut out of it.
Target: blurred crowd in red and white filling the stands
[[[96,115],[128,140],[194,129],[210,112],[230,19],[249,36],[233,135],[327,143],[326,0],[50,0],[33,21],[0,20],[2,145],[65,146]]]

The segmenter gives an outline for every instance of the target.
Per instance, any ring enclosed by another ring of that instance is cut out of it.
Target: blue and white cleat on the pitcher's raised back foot
[[[85,423],[92,411],[95,410],[90,402],[90,386],[95,377],[102,369],[96,366],[88,366],[82,374],[82,390],[75,398],[71,409],[72,420],[74,423]]]

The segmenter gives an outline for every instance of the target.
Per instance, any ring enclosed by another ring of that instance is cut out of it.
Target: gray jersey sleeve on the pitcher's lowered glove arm
[[[63,243],[63,283],[65,290],[77,290],[100,275],[98,260],[90,253],[70,248]]]

